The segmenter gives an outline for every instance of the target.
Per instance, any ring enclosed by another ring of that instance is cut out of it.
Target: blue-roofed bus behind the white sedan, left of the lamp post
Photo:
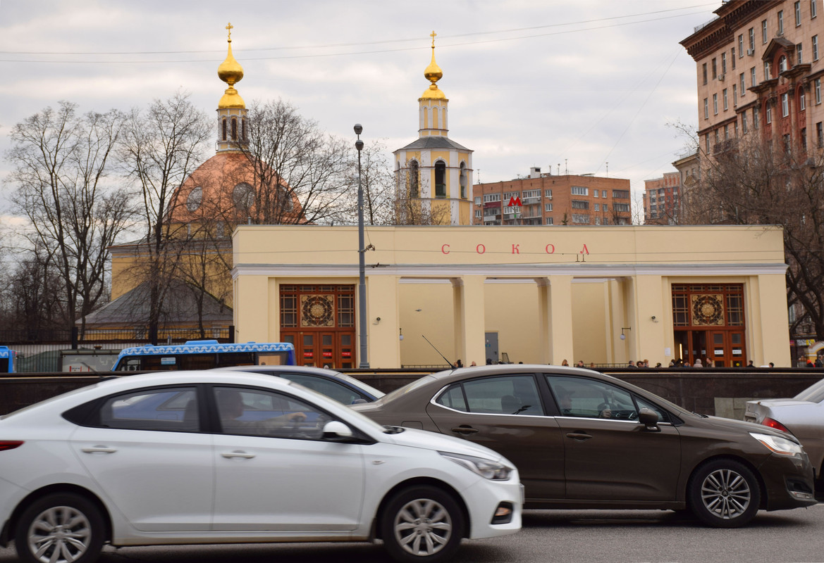
[[[120,351],[112,371],[211,370],[232,365],[296,365],[288,342],[221,344],[190,340],[168,346],[138,346]]]

